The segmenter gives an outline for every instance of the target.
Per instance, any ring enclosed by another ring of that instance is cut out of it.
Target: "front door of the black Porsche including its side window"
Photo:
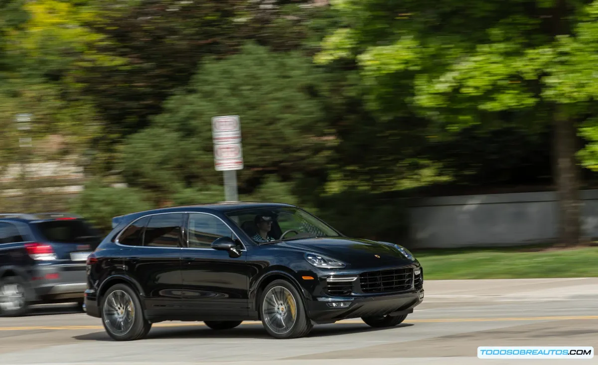
[[[188,248],[181,250],[184,290],[182,300],[187,315],[198,317],[246,317],[251,270],[246,251],[230,257],[227,251],[210,245],[233,232],[218,217],[190,213]]]

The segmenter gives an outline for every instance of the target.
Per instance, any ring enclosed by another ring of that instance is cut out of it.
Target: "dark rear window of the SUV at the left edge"
[[[51,220],[35,225],[44,241],[84,243],[98,238],[98,232],[80,219]]]

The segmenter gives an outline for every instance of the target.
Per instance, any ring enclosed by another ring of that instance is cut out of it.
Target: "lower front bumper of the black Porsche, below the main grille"
[[[423,296],[424,290],[420,289],[368,297],[318,297],[310,300],[307,308],[309,317],[315,323],[331,323],[349,318],[408,314],[422,303]]]

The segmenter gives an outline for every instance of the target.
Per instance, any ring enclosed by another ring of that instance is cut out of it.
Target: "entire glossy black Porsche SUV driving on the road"
[[[84,295],[117,341],[171,320],[261,320],[281,339],[346,318],[389,327],[423,300],[423,269],[404,247],[345,237],[293,205],[161,208],[113,226],[87,259]]]

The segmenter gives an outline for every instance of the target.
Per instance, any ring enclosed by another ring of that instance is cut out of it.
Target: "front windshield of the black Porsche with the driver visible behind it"
[[[326,223],[298,208],[256,208],[231,211],[233,220],[255,243],[298,238],[338,237]]]

